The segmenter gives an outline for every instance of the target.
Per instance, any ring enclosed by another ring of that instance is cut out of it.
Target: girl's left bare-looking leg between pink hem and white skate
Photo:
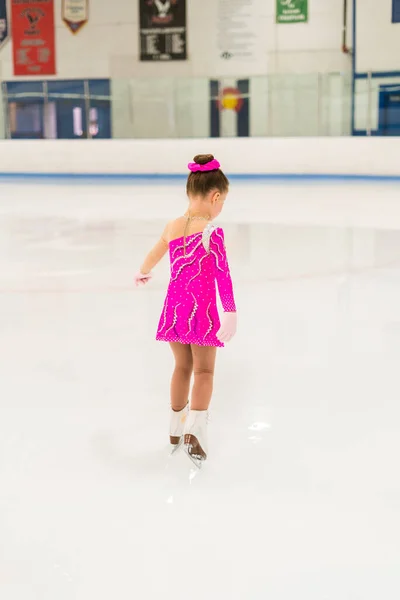
[[[170,342],[170,346],[175,357],[175,369],[171,380],[171,407],[173,411],[178,412],[188,403],[193,357],[189,344]]]

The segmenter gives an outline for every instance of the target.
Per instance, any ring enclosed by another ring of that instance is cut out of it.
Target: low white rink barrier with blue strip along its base
[[[0,177],[179,180],[212,153],[234,179],[400,180],[400,138],[2,140]]]

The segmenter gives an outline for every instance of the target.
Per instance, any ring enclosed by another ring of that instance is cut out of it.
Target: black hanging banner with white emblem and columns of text
[[[140,60],[186,60],[186,0],[139,0]]]

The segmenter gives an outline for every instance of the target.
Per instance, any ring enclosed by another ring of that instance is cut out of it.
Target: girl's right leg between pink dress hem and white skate
[[[194,385],[190,403],[191,410],[208,410],[214,383],[217,348],[192,344]]]

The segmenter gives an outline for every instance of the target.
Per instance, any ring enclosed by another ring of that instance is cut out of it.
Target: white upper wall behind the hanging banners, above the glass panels
[[[342,0],[308,0],[308,22],[294,24],[276,23],[276,1],[186,0],[187,60],[140,61],[139,0],[113,0],[112,9],[90,2],[89,21],[76,35],[62,19],[62,0],[55,0],[57,76],[240,77],[348,66],[341,52]],[[0,62],[3,78],[12,79],[10,44]]]

